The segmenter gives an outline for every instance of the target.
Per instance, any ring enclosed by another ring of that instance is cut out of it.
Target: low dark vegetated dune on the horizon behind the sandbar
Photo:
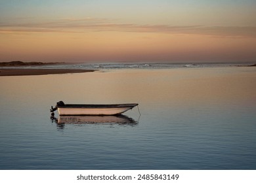
[[[37,66],[37,65],[54,65],[54,64],[61,64],[64,62],[38,62],[38,61],[31,61],[31,62],[24,62],[24,61],[9,61],[9,62],[0,62],[1,67],[18,67],[18,66]]]

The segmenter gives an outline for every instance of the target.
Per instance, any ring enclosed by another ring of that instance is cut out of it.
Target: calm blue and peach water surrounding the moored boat
[[[256,169],[255,67],[2,76],[0,87],[0,169]],[[56,124],[60,100],[139,103],[141,116]]]

